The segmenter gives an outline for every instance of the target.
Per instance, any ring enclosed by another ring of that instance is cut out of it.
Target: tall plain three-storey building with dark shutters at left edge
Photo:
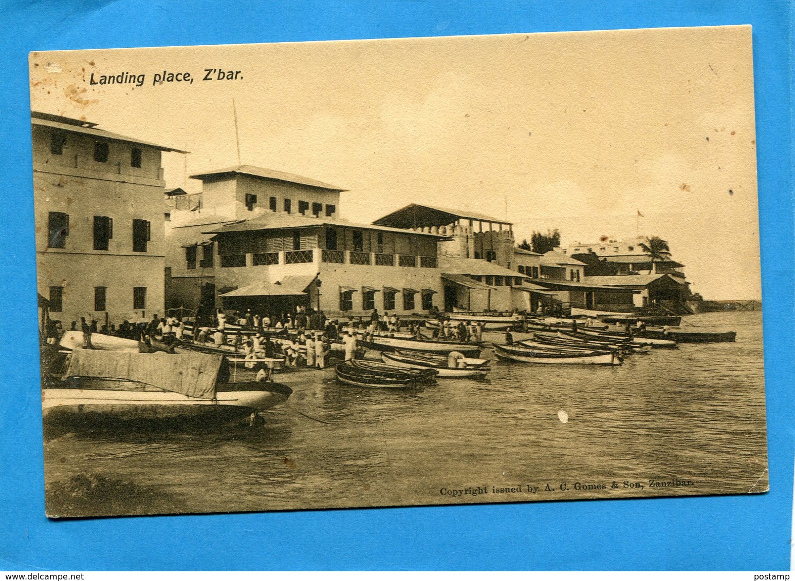
[[[31,113],[38,291],[68,329],[164,309],[162,152],[175,148]],[[184,153],[184,152],[180,152]]]

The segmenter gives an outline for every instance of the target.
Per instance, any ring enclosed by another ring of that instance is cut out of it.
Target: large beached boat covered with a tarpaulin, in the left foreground
[[[285,402],[279,383],[228,383],[223,357],[202,353],[134,353],[75,349],[60,381],[42,390],[45,418],[145,421],[174,417],[243,417]]]

